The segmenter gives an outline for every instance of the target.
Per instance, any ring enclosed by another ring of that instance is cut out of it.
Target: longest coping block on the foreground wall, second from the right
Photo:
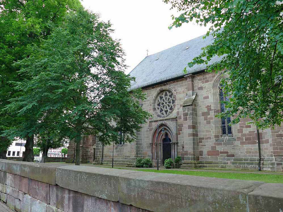
[[[245,211],[248,193],[263,182],[128,173],[119,177],[119,202],[150,211]]]

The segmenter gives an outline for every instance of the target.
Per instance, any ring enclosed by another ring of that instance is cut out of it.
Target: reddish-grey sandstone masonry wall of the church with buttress
[[[162,84],[143,88],[146,95],[141,101],[142,109],[152,117],[137,132],[137,141],[131,144],[115,145],[115,164],[134,164],[135,159],[152,158],[156,165],[157,126],[165,126],[172,134],[172,151],[181,156],[183,167],[211,167],[258,169],[258,138],[250,120],[241,119],[232,126],[232,134],[223,135],[221,120],[216,117],[220,112],[219,88],[221,73],[188,74]],[[174,110],[166,117],[156,113],[155,100],[163,91],[170,91],[175,98]],[[188,103],[190,102],[190,103]],[[283,125],[274,129],[259,130],[261,161],[263,170],[283,171]],[[159,141],[159,149],[162,148]],[[98,143],[97,143],[98,144]],[[101,150],[101,148],[100,148]],[[100,151],[96,162],[101,161]],[[104,147],[104,162],[111,163],[112,146]],[[159,154],[162,165],[162,150]]]

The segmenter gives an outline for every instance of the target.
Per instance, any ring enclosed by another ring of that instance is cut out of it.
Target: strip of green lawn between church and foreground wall
[[[168,174],[185,174],[200,177],[214,177],[238,180],[255,180],[266,183],[283,183],[283,174],[256,174],[256,173],[231,173],[231,172],[213,172],[213,171],[179,171],[179,170],[154,170],[154,169],[135,169],[136,171],[157,172]]]

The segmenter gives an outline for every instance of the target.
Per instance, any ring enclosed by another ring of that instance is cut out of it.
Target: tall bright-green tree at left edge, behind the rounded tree
[[[0,0],[0,135],[27,139],[24,161],[33,161],[33,114],[15,118],[17,111],[3,108],[10,103],[11,97],[20,96],[10,81],[21,81],[25,78],[18,74],[16,61],[29,57],[30,48],[47,39],[51,26],[58,26],[68,10],[81,7],[79,0]],[[25,130],[21,130],[25,128]],[[28,131],[30,129],[30,131]],[[21,132],[26,132],[23,135]],[[9,145],[6,142],[6,145]],[[3,147],[3,151],[9,146]]]

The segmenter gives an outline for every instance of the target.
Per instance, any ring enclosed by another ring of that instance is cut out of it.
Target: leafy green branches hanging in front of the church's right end
[[[180,1],[164,0],[182,11],[169,27],[194,21],[210,24],[206,36],[214,36],[193,61],[207,63],[213,56],[224,56],[207,71],[221,71],[228,110],[220,117],[234,116],[232,123],[248,117],[258,128],[281,125],[283,121],[283,3],[274,0]]]

